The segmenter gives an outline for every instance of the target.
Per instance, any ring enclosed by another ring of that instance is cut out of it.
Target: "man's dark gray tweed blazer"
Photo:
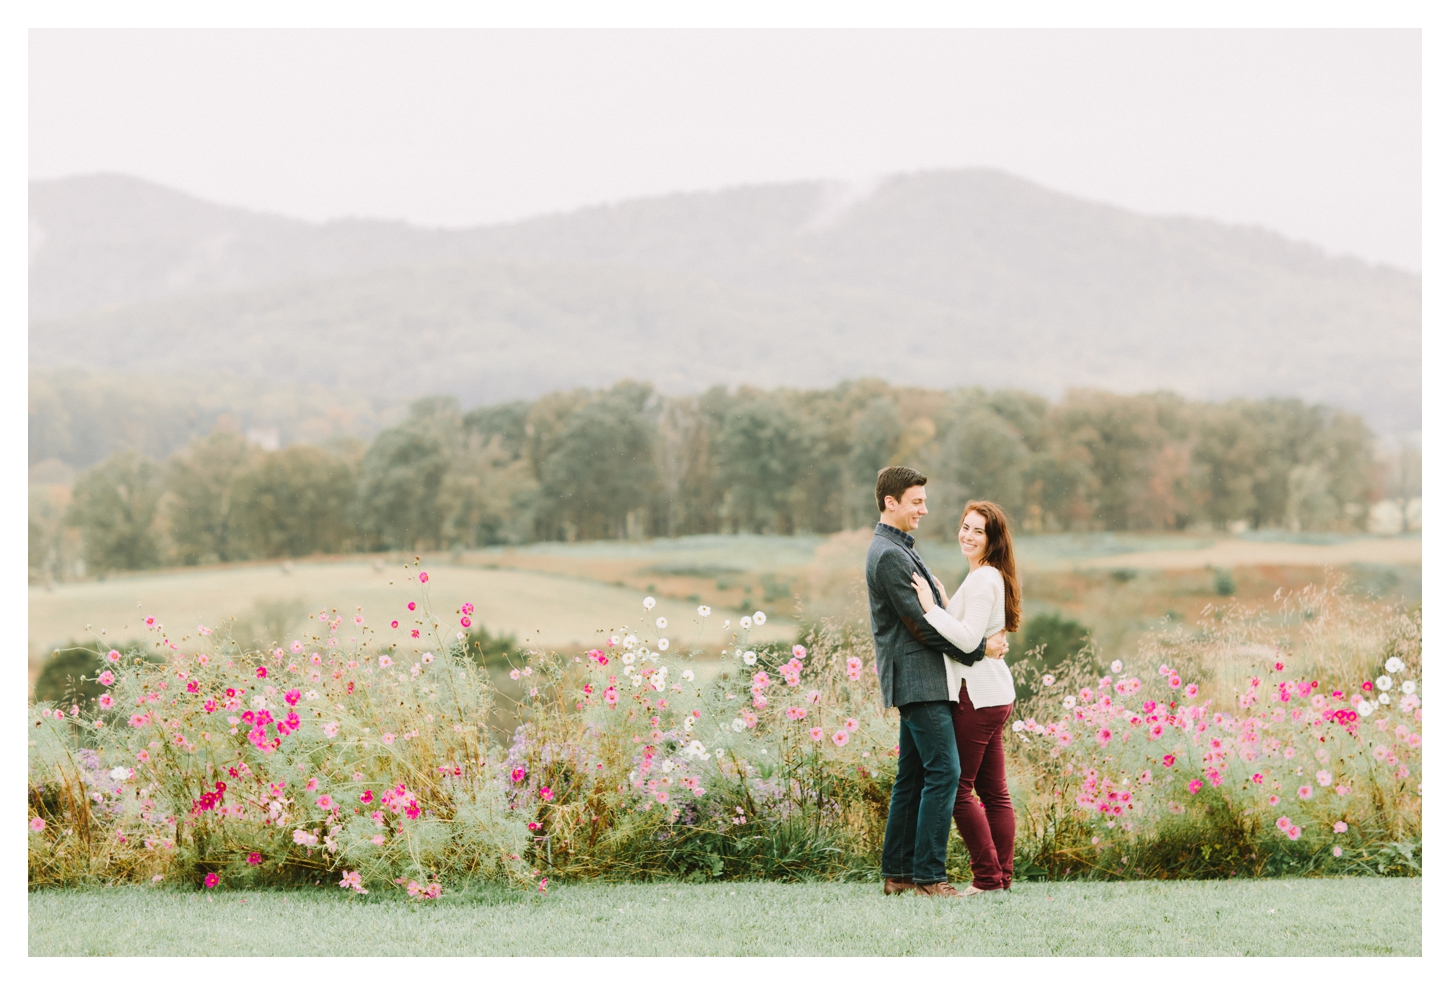
[[[911,583],[912,572],[921,572],[931,582],[937,605],[945,608],[945,601],[931,580],[927,563],[916,553],[915,543],[911,534],[877,524],[866,551],[876,673],[882,680],[882,705],[886,708],[915,701],[951,701],[941,654],[967,666],[986,656],[985,640],[972,653],[963,653],[922,618],[921,601]]]

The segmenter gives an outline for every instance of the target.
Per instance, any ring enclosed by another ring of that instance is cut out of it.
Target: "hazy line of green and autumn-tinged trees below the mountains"
[[[123,450],[59,518],[32,515],[32,569],[67,537],[91,572],[316,553],[705,532],[828,534],[876,519],[876,471],[931,476],[924,535],[967,498],[1021,531],[1347,529],[1376,495],[1373,434],[1296,399],[644,383],[464,411],[415,402],[371,444],[262,451],[229,431],[165,461]],[[70,534],[67,534],[70,531]]]

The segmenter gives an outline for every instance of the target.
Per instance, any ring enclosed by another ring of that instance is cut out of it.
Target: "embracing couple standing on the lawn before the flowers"
[[[1016,818],[1002,730],[1016,693],[1005,660],[1021,618],[1012,537],[1000,506],[969,502],[957,543],[969,572],[948,601],[916,553],[927,476],[876,476],[882,512],[866,554],[882,702],[900,714],[900,749],[882,846],[886,894],[972,897],[1009,889]],[[972,857],[966,891],[947,882],[951,823]]]

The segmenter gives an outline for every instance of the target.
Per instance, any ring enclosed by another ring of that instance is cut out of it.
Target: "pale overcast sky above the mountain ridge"
[[[986,165],[1420,270],[1415,30],[42,30],[30,176],[467,225]]]

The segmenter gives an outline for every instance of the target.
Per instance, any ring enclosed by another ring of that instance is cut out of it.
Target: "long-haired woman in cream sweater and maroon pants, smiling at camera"
[[[1016,632],[1022,618],[1022,592],[1012,557],[1006,514],[996,503],[974,500],[961,514],[957,543],[967,557],[967,577],[942,611],[921,574],[912,585],[927,621],[937,632],[972,653],[993,632]],[[942,598],[947,590],[937,583]],[[1002,730],[1012,717],[1016,691],[1006,662],[982,659],[970,667],[947,662],[947,686],[956,701],[951,722],[957,733],[961,780],[953,818],[972,856],[972,886],[964,895],[1011,889],[1012,843],[1016,818],[1006,792]]]

